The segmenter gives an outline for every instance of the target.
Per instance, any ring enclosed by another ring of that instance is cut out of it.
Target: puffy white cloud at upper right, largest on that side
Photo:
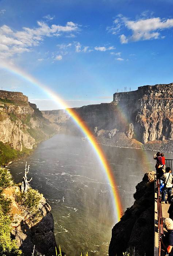
[[[141,41],[151,39],[164,39],[161,31],[173,28],[173,19],[147,18],[148,11],[143,12],[142,16],[138,16],[137,20],[129,20],[119,15],[111,27],[107,27],[107,31],[112,34],[119,34],[123,28],[132,32],[131,35],[120,35],[120,42],[127,44],[130,41]],[[152,13],[153,15],[153,13]],[[142,17],[142,18],[141,18]]]

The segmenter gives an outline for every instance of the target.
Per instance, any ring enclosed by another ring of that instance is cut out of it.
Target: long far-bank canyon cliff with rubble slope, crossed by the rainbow
[[[138,87],[115,93],[111,103],[88,105],[74,110],[88,124],[100,143],[172,151],[173,83]],[[44,111],[51,122],[75,132],[71,119],[62,112]],[[61,113],[61,114],[59,114]],[[78,131],[76,132],[76,134]]]

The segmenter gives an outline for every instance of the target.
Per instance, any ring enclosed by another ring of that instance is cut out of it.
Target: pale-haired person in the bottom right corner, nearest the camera
[[[164,224],[168,232],[161,238],[162,247],[166,255],[173,256],[173,221],[170,218],[166,218]]]

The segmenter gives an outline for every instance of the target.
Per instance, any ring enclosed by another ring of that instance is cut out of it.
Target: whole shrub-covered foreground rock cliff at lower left
[[[9,170],[0,167],[0,255],[19,256],[19,250],[23,256],[56,255],[50,211],[42,194],[31,187],[21,193],[21,184],[14,184]]]

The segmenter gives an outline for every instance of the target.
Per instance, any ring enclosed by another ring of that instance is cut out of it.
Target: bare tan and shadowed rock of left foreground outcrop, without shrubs
[[[32,255],[34,246],[38,255],[53,256],[55,253],[54,220],[51,207],[42,196],[39,202],[39,217],[32,221],[30,215],[23,211],[16,202],[15,195],[20,193],[17,186],[8,187],[3,195],[11,200],[11,214],[13,215],[11,236],[17,241],[24,256]]]

